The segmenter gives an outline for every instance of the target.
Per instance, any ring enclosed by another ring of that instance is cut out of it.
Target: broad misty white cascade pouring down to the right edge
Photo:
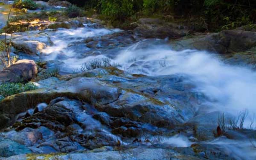
[[[132,73],[188,75],[218,111],[237,114],[246,109],[250,116],[256,113],[256,73],[250,68],[224,64],[209,52],[174,51],[167,45],[143,46],[143,42],[132,45],[115,60]]]

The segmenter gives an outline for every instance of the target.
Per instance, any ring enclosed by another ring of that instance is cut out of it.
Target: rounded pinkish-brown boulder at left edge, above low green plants
[[[0,71],[0,84],[5,82],[30,81],[36,78],[37,67],[34,60],[19,60]]]

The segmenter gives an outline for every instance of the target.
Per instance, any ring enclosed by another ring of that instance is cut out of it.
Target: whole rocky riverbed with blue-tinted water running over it
[[[125,31],[86,17],[24,24],[11,41],[21,60],[0,80],[38,89],[0,102],[0,159],[255,159],[254,28],[194,33],[151,18]]]

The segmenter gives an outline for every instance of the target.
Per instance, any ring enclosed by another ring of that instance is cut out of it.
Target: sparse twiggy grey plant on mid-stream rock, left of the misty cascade
[[[119,65],[117,63],[111,63],[111,60],[108,58],[94,59],[89,63],[84,63],[81,66],[81,71],[85,72],[85,71],[93,70],[96,68],[118,67],[118,66]]]

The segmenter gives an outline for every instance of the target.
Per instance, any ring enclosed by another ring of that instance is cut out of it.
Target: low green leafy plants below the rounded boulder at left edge
[[[13,94],[31,91],[37,89],[36,85],[29,82],[26,84],[22,83],[4,83],[0,85],[0,95],[7,97]]]

